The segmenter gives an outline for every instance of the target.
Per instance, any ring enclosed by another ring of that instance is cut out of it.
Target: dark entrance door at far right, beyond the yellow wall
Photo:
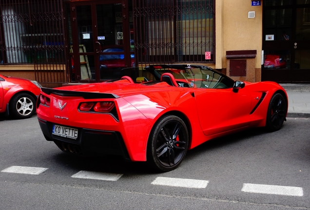
[[[265,0],[262,81],[310,83],[310,3]]]

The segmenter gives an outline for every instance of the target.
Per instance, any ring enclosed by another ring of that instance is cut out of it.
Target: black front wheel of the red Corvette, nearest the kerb
[[[275,93],[269,103],[267,112],[266,128],[268,131],[279,130],[286,120],[288,105],[280,93]]]

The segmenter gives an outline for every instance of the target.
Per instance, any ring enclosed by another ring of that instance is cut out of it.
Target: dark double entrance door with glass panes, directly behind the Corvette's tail
[[[71,1],[67,5],[71,80],[100,82],[134,66],[128,0]]]

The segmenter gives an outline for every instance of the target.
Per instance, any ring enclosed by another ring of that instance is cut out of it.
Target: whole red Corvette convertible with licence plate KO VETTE
[[[127,72],[128,69],[127,69]],[[114,154],[175,169],[187,150],[286,120],[288,97],[274,82],[233,81],[205,66],[154,65],[104,83],[42,88],[37,115],[46,140],[82,156]]]

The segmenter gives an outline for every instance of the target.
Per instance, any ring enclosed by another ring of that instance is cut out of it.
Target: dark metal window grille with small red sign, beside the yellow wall
[[[214,15],[214,0],[133,0],[138,63],[215,62]]]

